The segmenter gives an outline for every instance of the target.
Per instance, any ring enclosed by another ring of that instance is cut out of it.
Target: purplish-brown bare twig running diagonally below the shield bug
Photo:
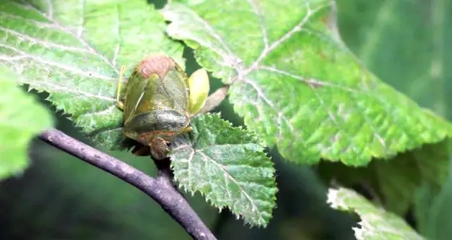
[[[57,129],[51,128],[44,131],[40,135],[40,139],[140,189],[159,203],[163,210],[176,220],[193,239],[216,240],[206,224],[172,183],[169,159],[156,162],[158,176],[153,178]]]

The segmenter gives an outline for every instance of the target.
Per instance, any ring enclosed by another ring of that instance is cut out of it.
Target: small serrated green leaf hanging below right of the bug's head
[[[201,192],[218,208],[266,226],[277,191],[273,163],[253,133],[233,127],[218,114],[196,117],[189,139],[172,152],[174,179],[191,193]]]

